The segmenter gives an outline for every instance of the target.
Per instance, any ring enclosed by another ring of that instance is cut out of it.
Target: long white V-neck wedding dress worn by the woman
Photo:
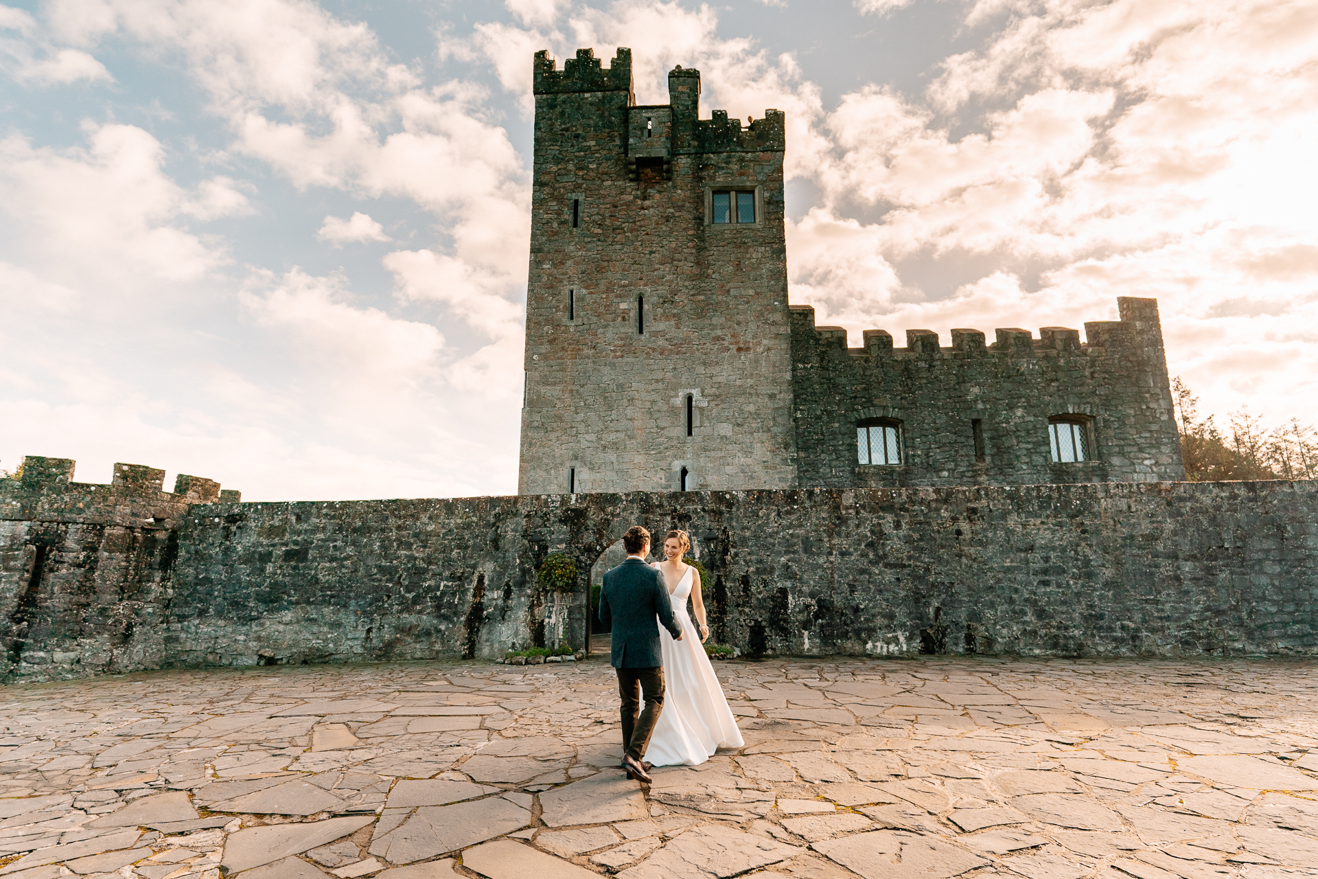
[[[659,568],[658,564],[652,567]],[[737,720],[724,697],[724,688],[700,643],[700,631],[687,614],[695,571],[688,567],[677,588],[670,594],[672,615],[681,626],[681,640],[673,640],[668,630],[659,626],[664,700],[643,758],[655,766],[697,766],[720,747],[745,745]],[[659,576],[663,576],[663,571],[659,571]]]

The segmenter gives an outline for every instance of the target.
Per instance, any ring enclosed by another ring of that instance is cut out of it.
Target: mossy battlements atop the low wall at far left
[[[241,492],[181,473],[165,490],[165,470],[115,464],[109,484],[74,482],[67,457],[29,455],[17,478],[0,480],[0,519],[115,522],[128,527],[174,527],[192,503],[239,503]]]

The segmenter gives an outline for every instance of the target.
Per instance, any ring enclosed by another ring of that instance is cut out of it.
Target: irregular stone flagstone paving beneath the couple
[[[627,781],[601,660],[0,689],[0,879],[1318,876],[1313,662],[716,664]]]

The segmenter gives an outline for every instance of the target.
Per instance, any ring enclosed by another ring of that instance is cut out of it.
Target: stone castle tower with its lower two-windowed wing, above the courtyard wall
[[[631,50],[534,59],[519,493],[1185,478],[1153,299],[1120,320],[882,329],[787,300],[784,116],[639,105]]]

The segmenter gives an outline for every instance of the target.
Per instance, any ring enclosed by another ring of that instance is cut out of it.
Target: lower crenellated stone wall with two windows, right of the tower
[[[953,329],[938,345],[928,329],[894,348],[884,331],[816,327],[792,306],[792,397],[801,485],[1031,485],[1155,482],[1185,478],[1157,300],[1118,299],[1119,322],[1079,332],[1044,327]],[[1093,460],[1054,464],[1048,419],[1087,420]],[[900,465],[857,463],[857,422],[900,423]],[[978,420],[978,424],[975,422]],[[977,448],[977,428],[978,443]]]

